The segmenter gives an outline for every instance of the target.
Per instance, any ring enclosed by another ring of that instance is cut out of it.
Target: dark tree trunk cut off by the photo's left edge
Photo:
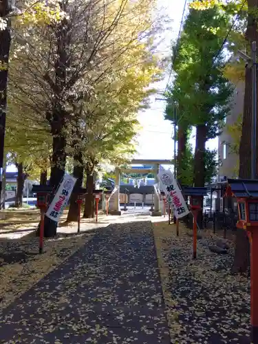
[[[10,1],[12,2],[12,1]],[[8,14],[12,10],[8,0],[0,1],[0,195],[3,184],[4,140],[6,134],[6,105],[8,64],[11,44]]]

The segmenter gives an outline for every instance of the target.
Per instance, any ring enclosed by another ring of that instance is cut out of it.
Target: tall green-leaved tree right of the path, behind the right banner
[[[208,139],[219,134],[219,124],[230,107],[233,87],[222,72],[224,54],[219,52],[222,37],[219,30],[228,28],[228,18],[217,7],[198,11],[191,9],[184,23],[175,58],[175,79],[167,94],[168,102],[178,103],[185,125],[196,127],[194,184],[204,186],[208,177],[205,160]]]

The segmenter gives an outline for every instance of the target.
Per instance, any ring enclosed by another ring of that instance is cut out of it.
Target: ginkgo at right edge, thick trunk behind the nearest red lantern
[[[235,23],[239,22],[241,14],[247,17],[245,22],[244,38],[246,39],[246,52],[250,55],[251,44],[253,41],[258,42],[258,25],[257,25],[257,7],[258,0],[239,0],[239,1],[194,1],[191,6],[198,10],[204,10],[208,7],[220,6],[225,14],[233,14]],[[235,25],[235,24],[234,24]],[[241,49],[241,47],[240,47]],[[252,73],[250,68],[245,70],[245,95],[244,95],[244,114],[241,126],[241,140],[239,144],[239,178],[250,178],[251,176],[251,127],[252,127]],[[258,153],[258,145],[257,145]],[[257,155],[258,156],[258,155]],[[246,230],[237,230],[237,239],[235,246],[235,259],[233,272],[245,272],[250,261],[249,240]]]

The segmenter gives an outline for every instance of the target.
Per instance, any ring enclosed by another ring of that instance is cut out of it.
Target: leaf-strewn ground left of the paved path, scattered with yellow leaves
[[[20,246],[25,246],[30,253],[28,260],[17,264],[4,264],[3,259],[1,259],[0,309],[6,308],[14,299],[30,289],[36,282],[76,252],[91,237],[92,234],[83,234],[73,237],[45,239],[42,255],[37,254],[38,238],[21,241]],[[4,242],[6,244],[6,241]],[[11,241],[10,248],[12,249]],[[6,252],[6,245],[1,250]]]

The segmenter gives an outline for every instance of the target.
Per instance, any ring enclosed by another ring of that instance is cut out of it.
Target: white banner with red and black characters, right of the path
[[[158,173],[160,189],[166,194],[169,204],[172,204],[174,215],[177,219],[190,213],[184,197],[179,189],[178,182],[170,170],[162,170]]]

